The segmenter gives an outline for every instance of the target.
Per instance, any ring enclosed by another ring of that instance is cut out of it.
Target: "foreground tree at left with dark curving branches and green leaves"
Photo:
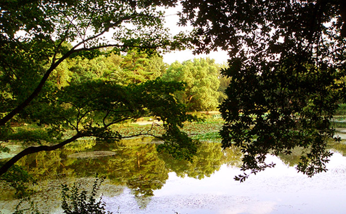
[[[181,84],[157,80],[122,88],[89,79],[67,85],[61,73],[66,60],[94,58],[102,54],[101,48],[112,47],[119,53],[181,47],[184,36],[168,35],[157,7],[173,6],[170,1],[6,0],[0,6],[0,140],[13,136],[11,122],[28,121],[48,125],[40,130],[53,144],[25,149],[0,168],[0,175],[27,154],[55,150],[83,136],[119,139],[119,133],[110,130],[116,122],[154,114],[165,121],[167,130],[179,135],[178,127],[191,119],[169,95],[181,90]],[[106,40],[109,32],[112,39]],[[161,101],[168,106],[153,105]],[[166,115],[175,113],[176,117]],[[74,130],[73,135],[64,136],[66,129]],[[174,135],[167,137],[172,140]],[[180,138],[188,140],[184,134]]]

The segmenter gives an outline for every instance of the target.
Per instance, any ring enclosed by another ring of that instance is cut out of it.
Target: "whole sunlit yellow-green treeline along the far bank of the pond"
[[[126,54],[101,53],[97,57],[76,56],[65,60],[50,77],[50,83],[61,89],[72,82],[87,80],[116,81],[120,85],[142,83],[161,78],[185,83],[185,91],[176,96],[190,111],[215,110],[225,98],[229,81],[220,75],[226,64],[210,58],[195,58],[182,63],[164,63],[157,53],[131,50]]]

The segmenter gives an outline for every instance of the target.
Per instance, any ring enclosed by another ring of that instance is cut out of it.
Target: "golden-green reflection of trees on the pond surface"
[[[219,143],[202,142],[191,162],[158,153],[157,143],[151,138],[121,140],[111,144],[79,140],[61,150],[27,156],[19,164],[33,175],[40,189],[44,189],[48,195],[59,192],[49,193],[51,188],[44,186],[46,181],[59,186],[62,180],[72,183],[80,178],[92,178],[97,173],[106,176],[107,185],[118,188],[106,188],[104,195],[113,195],[111,191],[120,194],[124,187],[128,187],[141,208],[150,202],[153,190],[162,188],[169,172],[175,172],[179,177],[202,179],[212,175],[223,164],[233,167],[242,164],[242,154],[238,149],[222,150]],[[333,150],[345,154],[346,145],[333,146],[336,146]],[[296,149],[290,156],[278,157],[286,165],[294,166],[302,153],[304,151]]]

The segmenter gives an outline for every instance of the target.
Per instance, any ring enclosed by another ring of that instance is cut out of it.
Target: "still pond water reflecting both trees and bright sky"
[[[202,143],[193,162],[156,152],[157,141],[136,138],[106,144],[79,140],[63,150],[23,158],[20,165],[37,179],[31,198],[45,213],[62,213],[61,184],[79,182],[87,190],[95,174],[105,175],[100,193],[113,213],[344,213],[346,210],[346,145],[333,144],[329,169],[312,178],[294,165],[291,156],[268,156],[276,163],[250,176],[242,172],[241,153],[222,151],[217,143]],[[1,185],[0,210],[12,213],[19,203],[14,190]]]

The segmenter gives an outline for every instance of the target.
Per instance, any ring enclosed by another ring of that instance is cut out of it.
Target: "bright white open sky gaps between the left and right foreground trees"
[[[176,8],[169,8],[165,10],[165,16],[166,16],[166,23],[165,27],[170,29],[171,34],[178,34],[181,31],[189,31],[192,30],[191,26],[182,27],[178,26],[177,23],[179,21],[179,17],[176,15],[177,11],[181,9],[181,6],[177,6]],[[170,64],[175,61],[186,61],[193,58],[205,58],[209,57],[212,59],[215,59],[216,63],[222,64],[224,62],[227,62],[228,55],[226,51],[214,51],[210,52],[209,54],[199,54],[194,55],[192,53],[193,50],[183,50],[183,51],[173,51],[166,54],[163,54],[163,61]]]

